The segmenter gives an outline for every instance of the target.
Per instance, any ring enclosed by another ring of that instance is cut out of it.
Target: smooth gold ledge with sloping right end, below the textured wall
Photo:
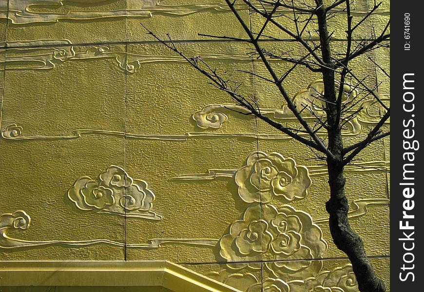
[[[0,261],[0,286],[164,287],[239,292],[169,261]]]

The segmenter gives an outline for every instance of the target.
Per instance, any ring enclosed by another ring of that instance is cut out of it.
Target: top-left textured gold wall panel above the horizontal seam
[[[24,40],[62,39],[71,43],[124,41],[126,2],[9,0],[7,40],[19,46],[30,45],[22,42]]]

